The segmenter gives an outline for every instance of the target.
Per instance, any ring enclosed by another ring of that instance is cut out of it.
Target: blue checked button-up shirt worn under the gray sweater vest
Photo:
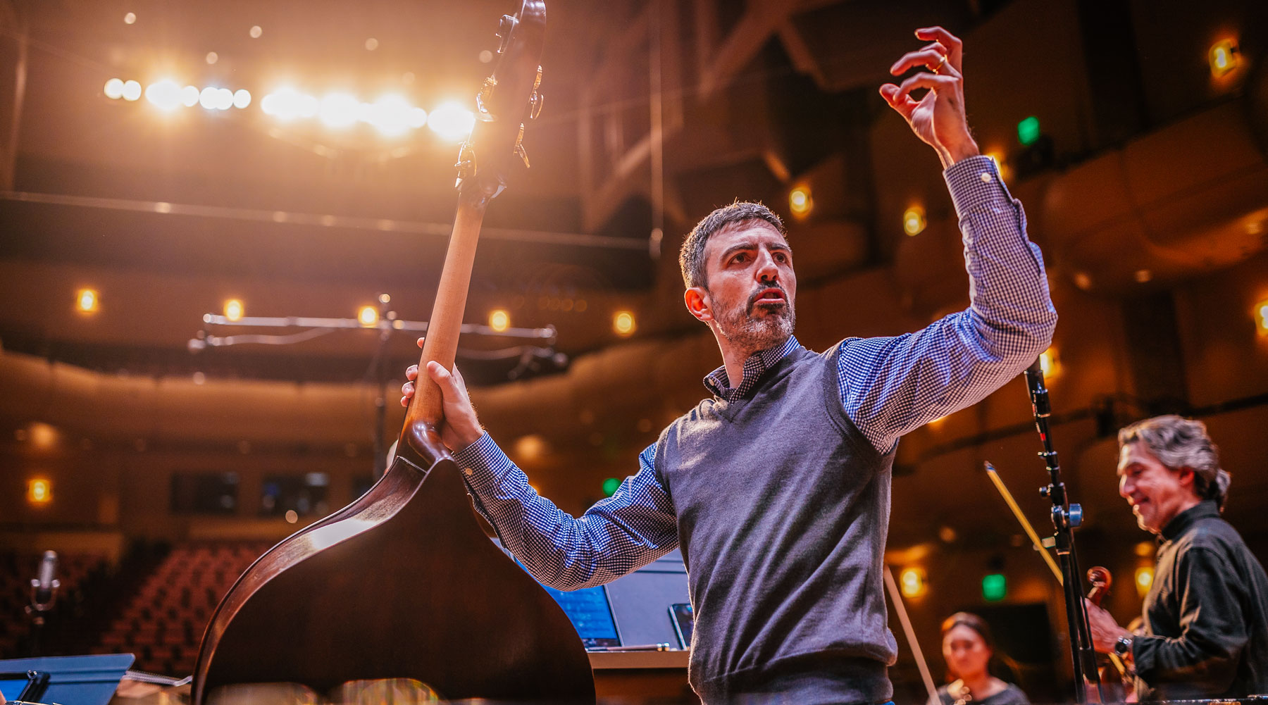
[[[1021,203],[994,161],[970,157],[943,176],[964,233],[969,308],[912,333],[847,339],[838,358],[846,413],[883,453],[903,434],[979,402],[1016,377],[1047,347],[1056,325],[1038,247],[1027,240]],[[725,366],[711,372],[705,387],[734,401],[798,349],[790,336],[746,360],[735,387]],[[677,548],[673,503],[653,469],[654,454],[656,444],[643,450],[638,473],[579,519],[534,492],[488,434],[454,459],[503,545],[539,581],[577,590],[616,579]]]

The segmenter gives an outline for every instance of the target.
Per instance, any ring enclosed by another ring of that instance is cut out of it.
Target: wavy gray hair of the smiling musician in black
[[[1211,441],[1206,424],[1169,413],[1137,421],[1118,431],[1118,448],[1144,443],[1158,462],[1172,470],[1193,470],[1193,492],[1215,500],[1224,508],[1232,475],[1220,467],[1220,448]]]

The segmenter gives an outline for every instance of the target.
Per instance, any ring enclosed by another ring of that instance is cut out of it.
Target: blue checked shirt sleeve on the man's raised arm
[[[1047,349],[1056,327],[1044,259],[994,160],[961,160],[943,178],[964,235],[969,308],[913,333],[847,340],[838,358],[846,413],[881,453],[1002,387]]]

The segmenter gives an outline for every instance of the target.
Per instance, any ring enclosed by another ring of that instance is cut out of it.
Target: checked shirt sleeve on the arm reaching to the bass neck
[[[476,508],[533,577],[557,590],[611,582],[678,545],[673,505],[653,469],[656,444],[639,470],[579,519],[529,487],[529,478],[484,434],[454,454]]]

